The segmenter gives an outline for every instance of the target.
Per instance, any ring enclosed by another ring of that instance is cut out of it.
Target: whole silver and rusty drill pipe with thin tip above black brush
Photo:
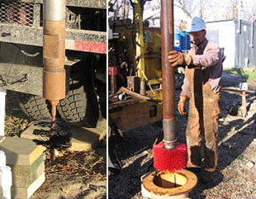
[[[43,97],[50,101],[55,121],[56,106],[66,94],[65,0],[44,0],[43,10]]]

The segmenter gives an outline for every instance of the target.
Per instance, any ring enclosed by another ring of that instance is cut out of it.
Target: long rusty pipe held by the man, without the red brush
[[[173,50],[173,0],[161,0],[161,54],[163,78],[163,128],[165,149],[175,148],[175,85],[174,68],[168,63],[168,52]]]

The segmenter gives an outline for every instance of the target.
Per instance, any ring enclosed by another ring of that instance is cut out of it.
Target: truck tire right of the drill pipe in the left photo
[[[82,121],[83,126],[92,128],[97,126],[99,116],[93,61],[88,57],[71,67],[69,92],[57,106],[62,119],[72,123]]]

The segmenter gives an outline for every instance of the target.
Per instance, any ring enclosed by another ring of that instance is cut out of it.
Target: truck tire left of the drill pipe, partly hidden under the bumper
[[[50,119],[50,104],[43,97],[20,92],[20,107],[34,120]]]

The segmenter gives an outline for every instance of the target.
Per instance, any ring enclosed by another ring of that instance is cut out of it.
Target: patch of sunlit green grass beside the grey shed
[[[223,69],[227,73],[232,73],[235,75],[239,75],[240,77],[244,78],[244,81],[247,80],[256,80],[256,68],[246,68],[246,69]]]

